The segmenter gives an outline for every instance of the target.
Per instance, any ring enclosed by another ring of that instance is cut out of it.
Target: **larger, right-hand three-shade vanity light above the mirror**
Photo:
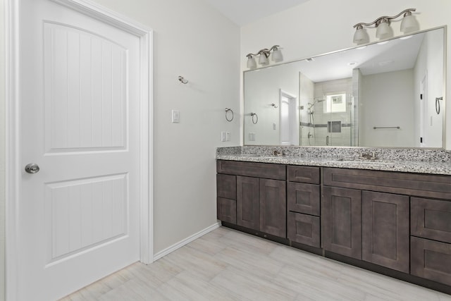
[[[357,45],[366,44],[369,42],[369,35],[364,27],[376,27],[376,37],[378,39],[387,39],[393,37],[393,29],[390,27],[390,20],[396,19],[403,15],[401,21],[401,32],[404,34],[419,30],[419,24],[416,22],[412,11],[416,11],[416,8],[407,8],[404,11],[398,13],[396,16],[382,16],[377,18],[371,23],[357,23],[354,25],[356,31],[354,33],[354,43]]]

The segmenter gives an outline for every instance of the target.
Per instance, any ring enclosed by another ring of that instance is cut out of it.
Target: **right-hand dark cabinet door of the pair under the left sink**
[[[260,179],[260,231],[287,237],[285,181]]]

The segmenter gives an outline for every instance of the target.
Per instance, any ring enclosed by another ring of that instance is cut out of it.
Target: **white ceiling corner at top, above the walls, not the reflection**
[[[237,25],[246,25],[309,0],[204,0]]]

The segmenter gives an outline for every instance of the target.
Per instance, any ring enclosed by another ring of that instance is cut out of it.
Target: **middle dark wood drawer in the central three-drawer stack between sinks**
[[[288,182],[288,210],[319,216],[319,185]]]

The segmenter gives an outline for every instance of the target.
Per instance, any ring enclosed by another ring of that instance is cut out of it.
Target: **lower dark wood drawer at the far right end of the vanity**
[[[411,274],[451,285],[451,245],[414,236],[410,243]]]

